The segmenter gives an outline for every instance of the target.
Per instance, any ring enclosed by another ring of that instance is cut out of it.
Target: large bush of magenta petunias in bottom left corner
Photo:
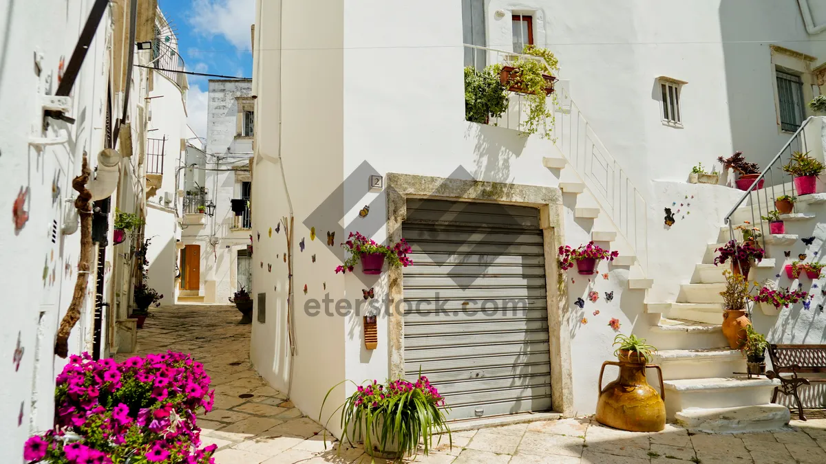
[[[125,362],[72,356],[57,377],[55,429],[29,438],[27,461],[71,464],[134,462],[211,464],[216,447],[201,443],[196,412],[215,392],[200,362],[185,353]],[[79,440],[73,441],[72,435]]]

